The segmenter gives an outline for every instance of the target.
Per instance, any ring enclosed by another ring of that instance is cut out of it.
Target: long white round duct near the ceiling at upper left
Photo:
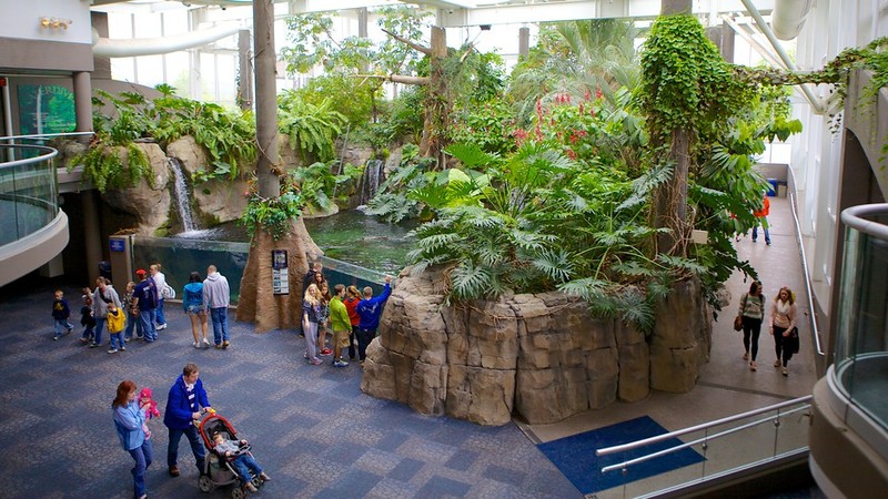
[[[135,38],[129,40],[99,38],[95,31],[93,31],[94,43],[92,45],[92,53],[99,58],[158,55],[203,47],[225,37],[236,34],[238,31],[242,29],[241,26],[228,24],[173,37]]]

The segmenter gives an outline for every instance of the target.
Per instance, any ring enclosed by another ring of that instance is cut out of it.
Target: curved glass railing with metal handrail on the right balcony
[[[888,430],[888,204],[855,206],[846,225],[835,385]],[[875,444],[875,442],[874,442]]]

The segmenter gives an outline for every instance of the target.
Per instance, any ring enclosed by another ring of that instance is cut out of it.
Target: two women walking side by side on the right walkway
[[[754,281],[749,286],[749,292],[740,297],[737,319],[743,329],[743,346],[745,353],[743,359],[749,361],[749,369],[758,369],[756,358],[758,357],[758,337],[761,334],[761,325],[765,324],[767,315],[768,332],[774,336],[774,350],[777,359],[774,367],[779,367],[784,376],[789,376],[787,369],[793,354],[798,352],[798,328],[796,327],[797,307],[796,295],[793,291],[783,286],[774,297],[770,309],[766,314],[767,305],[763,295],[761,283]]]

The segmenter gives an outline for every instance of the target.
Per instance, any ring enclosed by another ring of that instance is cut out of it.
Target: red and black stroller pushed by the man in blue
[[[238,455],[230,458],[218,455],[215,452],[215,442],[213,441],[213,436],[215,434],[221,432],[228,440],[239,440],[239,438],[238,431],[234,429],[231,422],[215,413],[211,413],[209,416],[203,418],[198,427],[198,432],[201,434],[203,445],[208,450],[206,459],[203,460],[203,475],[201,475],[200,481],[198,482],[201,492],[210,492],[216,487],[224,487],[234,483],[234,488],[231,490],[231,497],[233,499],[243,499],[246,497],[246,492],[239,486],[241,479],[238,476],[234,466],[231,464],[231,460],[243,454],[249,454],[252,456],[250,452],[251,446],[241,446],[241,448],[238,450]],[[250,481],[253,483],[253,486],[256,488],[261,487],[264,480],[254,476],[252,471],[251,476],[253,479]]]

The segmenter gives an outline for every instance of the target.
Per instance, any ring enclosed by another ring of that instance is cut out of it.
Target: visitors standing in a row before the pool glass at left
[[[150,273],[150,274],[149,274]],[[105,326],[110,335],[109,354],[125,352],[125,344],[133,339],[153,343],[158,332],[167,328],[163,313],[165,298],[175,297],[175,293],[167,284],[160,264],[152,264],[149,271],[135,271],[138,282],[129,282],[121,299],[111,281],[100,276],[95,279],[95,289],[83,288],[83,306],[80,308],[80,324],[83,326],[81,343],[90,348],[102,346],[102,334]],[[228,307],[231,289],[225,276],[219,273],[215,265],[206,268],[206,278],[201,279],[192,272],[189,283],[182,291],[182,306],[191,318],[191,330],[194,336],[194,348],[210,347],[206,338],[208,317],[213,323],[213,342],[219,349],[231,345],[228,324]],[[64,292],[56,289],[52,303],[54,322],[52,339],[58,340],[73,330],[71,308],[64,299]]]

